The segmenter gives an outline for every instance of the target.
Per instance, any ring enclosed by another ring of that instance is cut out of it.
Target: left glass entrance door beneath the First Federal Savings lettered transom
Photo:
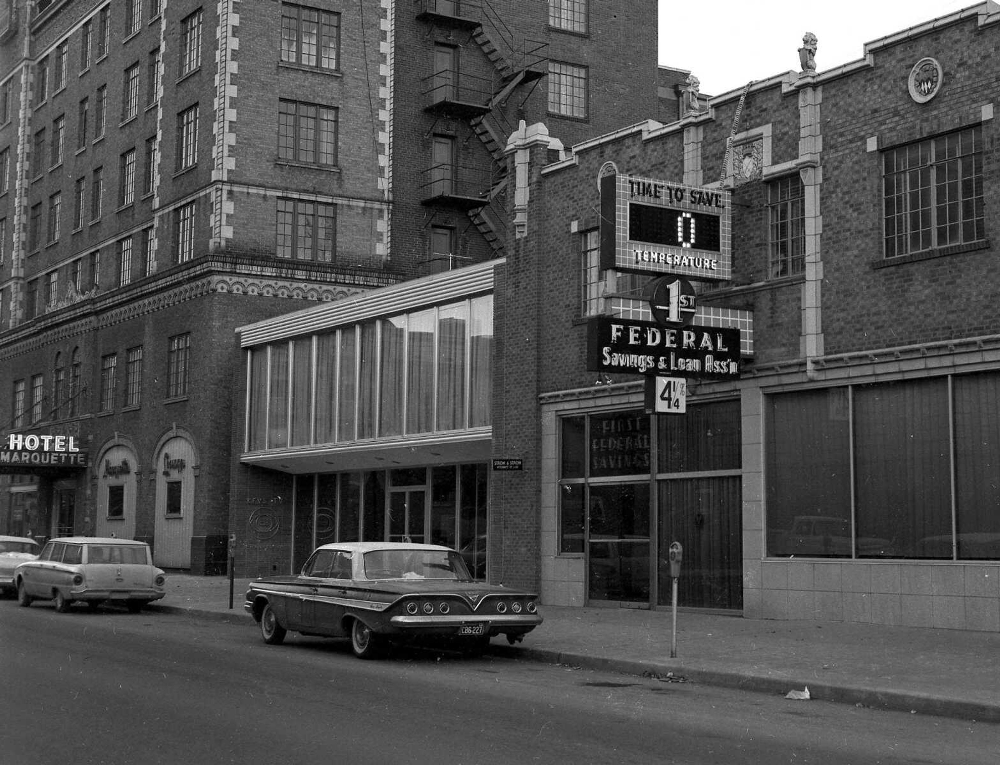
[[[649,605],[649,484],[590,487],[587,596]]]

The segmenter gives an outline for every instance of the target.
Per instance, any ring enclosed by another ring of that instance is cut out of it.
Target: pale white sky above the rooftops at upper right
[[[686,69],[716,96],[799,71],[802,36],[816,70],[864,57],[864,44],[976,5],[976,0],[659,0],[659,62]]]

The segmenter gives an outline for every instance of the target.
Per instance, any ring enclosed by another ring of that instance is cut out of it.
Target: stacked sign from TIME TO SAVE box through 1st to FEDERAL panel
[[[601,177],[600,187],[601,268],[659,277],[647,288],[656,321],[590,319],[587,369],[739,377],[740,331],[689,324],[696,296],[685,278],[730,278],[729,192],[617,173]]]

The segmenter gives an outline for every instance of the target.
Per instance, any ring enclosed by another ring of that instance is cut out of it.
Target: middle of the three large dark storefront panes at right
[[[947,380],[858,386],[854,432],[858,557],[950,558]]]

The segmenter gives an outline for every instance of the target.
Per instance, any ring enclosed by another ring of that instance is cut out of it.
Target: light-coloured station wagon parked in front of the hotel
[[[22,606],[54,600],[65,613],[76,601],[97,608],[124,603],[135,613],[166,595],[166,574],[153,565],[149,545],[117,537],[60,537],[45,543],[38,558],[14,569]]]

